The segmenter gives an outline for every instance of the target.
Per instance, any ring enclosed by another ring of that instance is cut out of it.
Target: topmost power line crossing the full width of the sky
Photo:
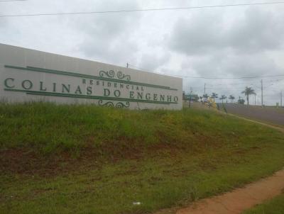
[[[8,1],[8,0],[7,0]],[[14,0],[16,1],[16,0]],[[18,0],[21,1],[21,0]],[[23,0],[22,0],[23,1]],[[191,10],[191,9],[215,9],[231,6],[256,6],[269,4],[284,4],[284,1],[262,2],[262,3],[248,3],[248,4],[223,4],[212,6],[187,6],[187,7],[173,7],[173,8],[153,8],[153,9],[129,9],[119,11],[89,11],[89,12],[70,12],[70,13],[34,13],[34,14],[11,14],[1,15],[1,17],[23,17],[23,16],[61,16],[61,15],[87,15],[87,14],[103,14],[103,13],[130,13],[130,12],[145,12],[145,11],[176,11],[176,10]]]

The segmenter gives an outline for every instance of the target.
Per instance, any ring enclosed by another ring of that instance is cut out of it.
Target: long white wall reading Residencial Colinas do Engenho
[[[182,79],[0,44],[0,99],[182,108]]]

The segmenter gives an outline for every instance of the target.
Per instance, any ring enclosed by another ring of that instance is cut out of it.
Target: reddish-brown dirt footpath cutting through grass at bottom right
[[[193,203],[189,208],[178,210],[177,214],[236,214],[263,203],[282,193],[284,189],[284,170],[273,176],[249,184],[244,188],[226,193],[222,196],[207,198]]]

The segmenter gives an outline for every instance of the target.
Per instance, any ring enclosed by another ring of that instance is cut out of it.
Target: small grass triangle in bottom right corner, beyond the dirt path
[[[251,210],[247,210],[244,214],[283,214],[284,213],[284,193],[273,198]]]

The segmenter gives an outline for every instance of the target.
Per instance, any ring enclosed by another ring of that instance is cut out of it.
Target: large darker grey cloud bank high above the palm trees
[[[180,18],[173,28],[169,47],[186,55],[207,55],[224,49],[238,53],[279,50],[283,43],[283,14],[253,8],[233,21],[226,20],[223,13]]]

